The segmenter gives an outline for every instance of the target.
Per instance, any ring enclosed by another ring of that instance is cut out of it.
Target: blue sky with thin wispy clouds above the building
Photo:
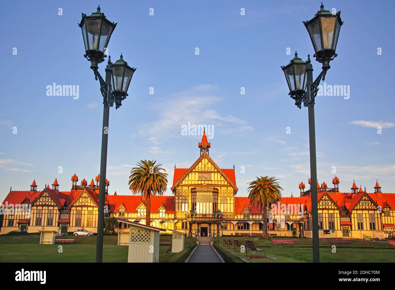
[[[99,4],[107,19],[118,23],[108,46],[112,60],[123,53],[125,61],[137,68],[129,97],[121,108],[110,111],[110,194],[130,193],[128,173],[141,159],[162,163],[170,187],[174,164],[190,167],[199,157],[201,136],[181,135],[181,126],[188,122],[214,127],[210,156],[221,168],[235,165],[238,196],[245,196],[247,182],[261,175],[280,178],[284,196],[299,194],[298,183],[306,183],[310,176],[307,108],[299,110],[293,104],[280,65],[287,64],[295,50],[303,59],[314,53],[302,21],[314,16],[320,2]],[[81,12],[90,15],[97,5],[97,1],[2,5],[2,200],[10,186],[28,190],[33,179],[43,189],[56,177],[66,191],[72,174],[90,182],[99,173],[102,97],[83,57],[77,26]],[[338,57],[331,62],[325,82],[349,86],[350,98],[316,99],[318,180],[330,184],[335,166],[341,191],[349,191],[353,179],[372,191],[378,179],[383,192],[394,192],[394,4],[330,1],[324,5],[341,10],[344,21]],[[63,15],[58,15],[58,8]],[[288,47],[291,55],[286,54]],[[314,60],[312,64],[316,77],[321,66]],[[104,68],[105,64],[99,66],[102,75]],[[47,96],[46,87],[53,83],[79,85],[79,98]],[[241,87],[245,95],[240,94]],[[291,134],[286,134],[287,127]]]

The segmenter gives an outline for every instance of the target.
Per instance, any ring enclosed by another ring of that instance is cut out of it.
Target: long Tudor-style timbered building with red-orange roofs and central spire
[[[235,167],[221,169],[209,156],[211,143],[205,132],[198,143],[199,158],[189,168],[175,168],[172,195],[151,197],[151,225],[162,229],[184,231],[189,235],[260,235],[263,226],[259,207],[250,204],[248,197],[237,197]],[[71,190],[59,191],[57,180],[52,188],[37,191],[34,180],[29,191],[10,191],[2,203],[4,208],[0,233],[9,231],[37,232],[56,230],[60,233],[75,229],[97,231],[100,175],[90,184],[85,178],[77,185],[78,176],[71,176]],[[96,182],[96,183],[95,183]],[[108,194],[105,180],[106,217],[114,216],[145,224],[146,205],[143,197]],[[311,186],[311,180],[308,179]],[[332,180],[333,188],[323,182],[318,188],[318,226],[320,237],[385,238],[395,231],[395,194],[382,193],[376,182],[374,192],[367,193],[357,185],[351,192],[339,190],[340,180]],[[312,237],[311,196],[299,184],[300,196],[282,197],[280,203],[268,210],[273,218],[270,235],[292,236],[302,233]],[[245,193],[244,193],[245,194]],[[190,211],[194,214],[191,216]],[[1,221],[1,219],[0,219]],[[117,231],[128,231],[127,224],[119,224]]]

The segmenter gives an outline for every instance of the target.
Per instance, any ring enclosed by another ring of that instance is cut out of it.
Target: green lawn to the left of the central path
[[[96,236],[64,235],[62,239],[75,239],[73,245],[40,245],[40,235],[0,236],[0,262],[95,262]],[[128,262],[128,246],[117,245],[117,235],[103,237],[103,262]],[[171,235],[161,235],[160,241],[170,241]],[[159,247],[159,262],[184,262],[196,243],[190,245],[185,239],[185,248],[180,253],[164,256],[169,246]]]

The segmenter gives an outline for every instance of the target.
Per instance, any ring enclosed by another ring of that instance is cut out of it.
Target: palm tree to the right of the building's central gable
[[[267,207],[270,204],[281,200],[281,191],[283,190],[274,176],[256,177],[256,180],[250,182],[248,185],[248,198],[254,206],[262,208],[263,214],[263,238],[267,239]]]

